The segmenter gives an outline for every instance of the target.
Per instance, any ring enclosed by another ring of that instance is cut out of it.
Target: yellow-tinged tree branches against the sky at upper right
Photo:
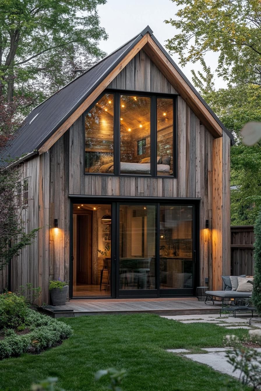
[[[180,5],[175,19],[180,30],[167,39],[167,49],[188,61],[205,65],[206,52],[218,52],[218,76],[229,83],[261,85],[260,0],[171,0]]]

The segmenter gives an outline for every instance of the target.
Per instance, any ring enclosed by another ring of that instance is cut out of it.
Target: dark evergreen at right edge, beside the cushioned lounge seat
[[[252,293],[252,301],[256,307],[257,313],[261,316],[261,213],[256,220],[254,227],[254,286]]]

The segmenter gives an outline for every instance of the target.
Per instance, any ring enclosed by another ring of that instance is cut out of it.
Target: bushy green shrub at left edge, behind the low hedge
[[[27,303],[23,296],[7,292],[0,294],[0,330],[17,328],[25,323]]]

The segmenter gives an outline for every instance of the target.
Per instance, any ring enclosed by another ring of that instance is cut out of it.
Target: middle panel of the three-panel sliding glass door
[[[157,205],[119,205],[119,296],[157,294]]]

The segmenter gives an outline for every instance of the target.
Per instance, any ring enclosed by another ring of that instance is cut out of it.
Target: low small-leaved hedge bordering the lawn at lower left
[[[40,352],[54,346],[72,334],[70,326],[30,308],[26,309],[23,321],[30,332],[18,335],[10,328],[5,329],[4,339],[0,340],[0,359],[11,356],[17,357],[30,350]]]

